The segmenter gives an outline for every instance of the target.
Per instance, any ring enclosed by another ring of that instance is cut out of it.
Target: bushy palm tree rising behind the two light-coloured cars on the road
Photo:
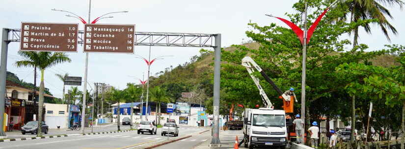
[[[151,100],[156,103],[156,121],[157,124],[160,124],[160,113],[161,113],[161,103],[170,103],[171,99],[167,96],[166,90],[161,88],[160,86],[156,86],[150,91],[151,93]],[[159,115],[159,118],[158,118]]]

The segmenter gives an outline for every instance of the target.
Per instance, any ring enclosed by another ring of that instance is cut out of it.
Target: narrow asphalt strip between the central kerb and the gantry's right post
[[[183,140],[160,146],[155,149],[192,149],[205,141],[209,141],[208,139],[210,138],[210,136],[211,131],[207,131],[198,135],[193,135],[192,137]]]

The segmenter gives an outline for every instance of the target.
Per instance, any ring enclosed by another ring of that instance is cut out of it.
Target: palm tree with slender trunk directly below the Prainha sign
[[[44,73],[46,68],[50,68],[56,64],[71,62],[70,58],[62,52],[35,52],[35,51],[19,51],[24,60],[17,61],[17,67],[38,67],[41,70],[41,84],[39,85],[39,101],[38,101],[38,133],[37,136],[42,136],[42,108],[44,104]]]

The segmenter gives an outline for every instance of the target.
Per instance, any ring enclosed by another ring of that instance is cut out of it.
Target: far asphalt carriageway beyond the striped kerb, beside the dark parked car
[[[134,126],[135,128],[135,126]],[[129,125],[120,125],[121,130],[129,130],[130,126]],[[107,125],[107,126],[97,126],[93,128],[93,132],[106,132],[106,131],[116,131],[117,130],[117,124],[113,125]],[[84,129],[85,133],[90,133],[91,128],[85,128]],[[49,129],[48,134],[43,134],[43,136],[51,136],[51,135],[60,135],[60,134],[75,134],[75,133],[81,133],[81,130],[70,130],[70,129]],[[31,133],[26,133],[22,134],[21,131],[19,130],[13,130],[12,132],[6,132],[7,138],[30,138],[30,137],[36,137],[36,134],[31,134]]]

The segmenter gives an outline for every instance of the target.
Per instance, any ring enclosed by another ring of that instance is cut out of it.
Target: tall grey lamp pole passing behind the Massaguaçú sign
[[[88,21],[90,22],[91,0],[88,2]],[[87,66],[88,66],[88,52],[86,52],[86,60],[84,64],[84,85],[83,85],[83,107],[81,110],[81,133],[84,134],[84,119],[86,118],[86,96],[87,96]]]

